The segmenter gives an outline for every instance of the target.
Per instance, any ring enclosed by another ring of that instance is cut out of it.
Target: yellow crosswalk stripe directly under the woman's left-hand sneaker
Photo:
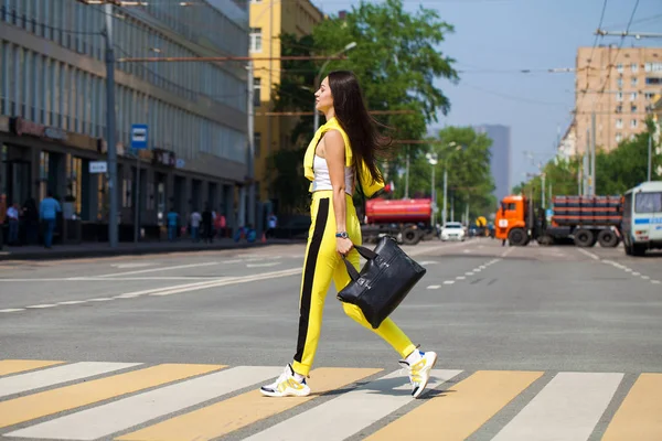
[[[127,433],[117,439],[124,441],[201,441],[215,439],[381,370],[372,368],[319,368],[310,375],[309,386],[313,392],[308,397],[268,398],[263,397],[259,390],[252,390],[146,429]]]

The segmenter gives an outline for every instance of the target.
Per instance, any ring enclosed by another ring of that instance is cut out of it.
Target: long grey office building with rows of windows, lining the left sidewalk
[[[182,4],[114,7],[120,240],[137,212],[154,236],[171,208],[186,225],[209,204],[231,226],[243,209],[245,66],[121,60],[248,54],[247,7]],[[92,225],[107,224],[110,191],[90,171],[107,157],[105,20],[103,6],[76,0],[0,1],[0,192],[19,204],[52,192],[87,239]],[[148,125],[148,150],[131,151],[134,123]]]

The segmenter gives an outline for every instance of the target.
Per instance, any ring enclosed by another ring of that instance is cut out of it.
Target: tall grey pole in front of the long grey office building
[[[115,50],[113,47],[113,4],[104,6],[106,15],[106,143],[108,144],[108,192],[110,214],[108,216],[108,241],[117,247],[117,144],[115,141]]]

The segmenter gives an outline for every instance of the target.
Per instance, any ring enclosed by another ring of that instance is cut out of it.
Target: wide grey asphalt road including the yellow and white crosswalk
[[[293,355],[302,245],[3,262],[0,435],[399,439],[415,424],[420,439],[662,439],[662,255],[490,239],[405,249],[428,272],[393,319],[439,354],[416,401],[397,354],[333,288],[310,378],[330,392],[254,395]],[[102,392],[153,368],[167,372],[145,377],[161,383]]]

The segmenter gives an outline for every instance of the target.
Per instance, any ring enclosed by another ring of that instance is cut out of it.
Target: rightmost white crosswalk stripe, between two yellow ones
[[[559,373],[492,441],[587,440],[623,374]]]

